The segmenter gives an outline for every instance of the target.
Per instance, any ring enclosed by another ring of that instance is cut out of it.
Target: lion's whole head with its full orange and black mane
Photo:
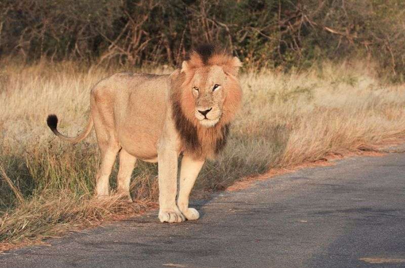
[[[185,150],[207,156],[225,145],[241,100],[240,66],[238,58],[204,45],[172,74],[173,115]]]

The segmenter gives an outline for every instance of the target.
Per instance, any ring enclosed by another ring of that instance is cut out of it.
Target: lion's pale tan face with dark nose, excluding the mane
[[[226,74],[219,66],[199,68],[191,80],[195,103],[194,116],[205,127],[212,127],[222,116],[225,100]]]

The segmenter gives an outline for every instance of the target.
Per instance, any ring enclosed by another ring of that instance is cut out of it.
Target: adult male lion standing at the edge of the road
[[[240,66],[236,57],[200,46],[171,75],[117,73],[100,81],[91,91],[87,127],[77,137],[59,133],[56,115],[49,115],[47,123],[70,142],[86,138],[94,124],[102,157],[97,196],[109,194],[108,179],[119,152],[118,192],[132,201],[129,186],[136,159],[157,161],[160,221],[197,219],[198,211],[188,207],[189,194],[205,159],[225,145],[241,99]]]

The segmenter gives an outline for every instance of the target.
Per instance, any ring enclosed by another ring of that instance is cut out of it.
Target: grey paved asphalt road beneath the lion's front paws
[[[304,169],[194,205],[197,221],[115,222],[6,252],[0,266],[405,266],[403,153]]]

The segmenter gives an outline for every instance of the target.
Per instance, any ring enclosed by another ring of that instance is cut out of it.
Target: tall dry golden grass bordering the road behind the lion
[[[405,87],[382,84],[372,70],[361,63],[343,63],[304,73],[242,74],[242,111],[225,151],[201,172],[194,198],[270,168],[373,150],[403,139]],[[2,62],[0,242],[57,236],[116,214],[139,212],[156,200],[156,165],[143,162],[133,173],[133,205],[117,196],[102,202],[91,199],[98,165],[94,132],[85,142],[65,144],[45,123],[47,114],[56,113],[61,131],[76,135],[86,124],[91,86],[117,71],[71,62]]]

